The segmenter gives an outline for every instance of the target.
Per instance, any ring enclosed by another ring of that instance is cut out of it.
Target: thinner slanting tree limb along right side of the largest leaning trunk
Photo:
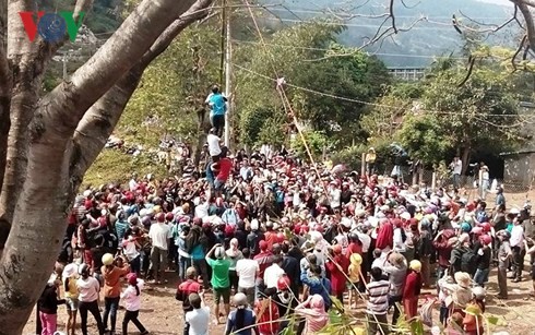
[[[134,93],[145,68],[192,22],[205,20],[214,0],[198,0],[175,21],[122,79],[96,101],[80,121],[73,136],[70,157],[70,194],[78,191],[85,171],[103,149],[119,118]]]

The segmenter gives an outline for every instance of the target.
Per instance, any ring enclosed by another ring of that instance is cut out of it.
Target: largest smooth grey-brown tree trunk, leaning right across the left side
[[[28,130],[26,181],[0,260],[0,335],[21,334],[59,252],[78,123],[193,2],[144,0],[71,82],[40,101]]]

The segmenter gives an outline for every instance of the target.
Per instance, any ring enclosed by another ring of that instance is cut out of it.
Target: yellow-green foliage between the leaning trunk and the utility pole
[[[197,111],[216,81],[218,33],[213,26],[186,29],[143,74],[118,127],[127,140],[155,146],[170,134],[198,137]],[[144,123],[146,125],[141,125]]]

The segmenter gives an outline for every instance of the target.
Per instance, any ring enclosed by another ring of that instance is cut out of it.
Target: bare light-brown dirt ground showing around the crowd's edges
[[[525,193],[506,194],[508,201],[508,207],[512,205],[521,207],[525,201]],[[530,199],[535,201],[535,192],[530,192]],[[488,196],[487,201],[490,203],[491,199]],[[528,260],[526,258],[526,270],[528,270]],[[181,310],[181,302],[175,300],[175,291],[177,287],[177,279],[175,273],[167,273],[169,284],[159,286],[148,286],[143,290],[142,295],[142,309],[140,313],[140,321],[145,325],[151,334],[182,334],[183,328],[183,313]],[[511,335],[516,334],[535,334],[535,300],[530,298],[528,292],[532,290],[532,280],[528,277],[528,273],[524,272],[524,277],[521,283],[512,283],[509,280],[509,299],[498,300],[495,298],[497,294],[497,277],[496,270],[492,270],[489,278],[489,285],[487,287],[487,311],[486,314],[492,314],[499,316],[504,321],[502,326],[491,327],[492,332],[507,331]],[[421,296],[420,303],[424,302],[426,296],[436,296],[435,290],[427,290]],[[345,299],[347,302],[347,299]],[[206,303],[213,306],[212,295],[206,294]],[[354,311],[356,316],[364,320],[364,303],[359,303],[359,309]],[[223,310],[223,307],[222,307]],[[117,332],[121,332],[121,322],[124,310],[121,309],[118,312],[117,318]],[[436,318],[438,321],[438,306],[435,309]],[[390,320],[389,315],[389,320]],[[223,320],[223,318],[222,318]],[[67,321],[67,312],[64,307],[60,307],[58,311],[58,331],[64,331],[64,324]],[[80,324],[80,315],[78,316]],[[91,314],[88,316],[90,334],[98,334],[95,321]],[[219,335],[224,334],[225,326],[216,325],[213,321],[211,323],[210,333]],[[24,335],[35,334],[35,313],[32,314],[26,327],[24,328]],[[81,334],[79,331],[78,334]],[[129,334],[139,334],[135,326],[130,323]]]

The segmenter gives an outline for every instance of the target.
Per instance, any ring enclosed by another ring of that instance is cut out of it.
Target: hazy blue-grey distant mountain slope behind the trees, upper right
[[[274,5],[270,8],[270,11],[278,16],[283,24],[308,21],[317,16],[334,17],[333,12],[338,15],[345,14],[343,17],[347,17],[348,14],[358,14],[345,21],[347,29],[340,36],[342,43],[358,47],[366,41],[366,37],[374,36],[384,20],[364,16],[385,13],[385,5],[390,1],[371,0],[358,9],[356,9],[358,4],[354,4],[350,10],[346,4],[350,3],[349,1],[283,0],[284,7],[276,7],[281,0],[265,0],[265,2]],[[359,3],[364,2],[364,0],[359,1]],[[418,22],[408,32],[401,32],[392,38],[387,38],[382,45],[376,44],[367,48],[370,52],[377,52],[389,67],[425,67],[432,61],[433,56],[459,50],[462,39],[451,24],[453,14],[466,24],[469,23],[469,20],[463,14],[480,23],[501,24],[511,16],[513,11],[511,7],[477,0],[405,0],[404,2],[407,8],[401,1],[395,1],[394,14],[397,28],[407,27],[419,17],[426,17],[426,20]],[[277,19],[275,16],[266,19],[266,22],[270,21],[276,22]],[[388,22],[384,27],[389,25]],[[487,43],[513,46],[516,36],[518,32],[512,27],[491,36]]]

